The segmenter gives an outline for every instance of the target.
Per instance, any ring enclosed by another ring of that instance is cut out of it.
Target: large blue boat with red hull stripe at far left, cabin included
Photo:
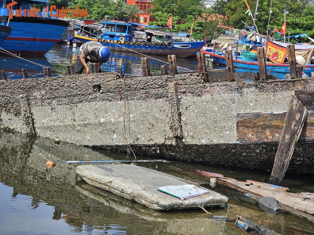
[[[49,0],[17,0],[12,5],[12,18],[9,18],[10,11],[6,6],[11,3],[3,1],[0,8],[0,24],[12,27],[11,34],[6,37],[0,45],[0,50],[7,50],[11,53],[21,55],[43,55],[49,51],[58,41],[68,22],[51,18],[50,12],[30,13],[31,4],[46,5]],[[30,13],[30,14],[29,14]],[[32,16],[36,15],[36,16]],[[45,17],[44,17],[45,16]]]

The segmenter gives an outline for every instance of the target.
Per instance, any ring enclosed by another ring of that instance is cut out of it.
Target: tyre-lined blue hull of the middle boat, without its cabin
[[[80,35],[75,35],[75,38],[82,41],[97,41],[95,38],[84,37]],[[98,40],[101,41],[101,40]],[[107,46],[111,51],[122,51],[122,52],[131,52],[131,53],[141,53],[143,55],[176,55],[177,57],[188,57],[198,50],[200,50],[205,42],[174,42],[173,44],[162,44],[159,46],[152,45],[151,43],[137,43],[130,45],[127,42],[127,45],[122,41],[114,41],[104,43],[101,41],[101,44]]]

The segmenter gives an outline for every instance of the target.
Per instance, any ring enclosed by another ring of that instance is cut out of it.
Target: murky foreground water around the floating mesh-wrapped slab
[[[62,160],[133,159],[127,153],[97,150],[43,138],[0,133],[0,234],[246,234],[233,223],[212,220],[236,215],[281,234],[312,234],[314,224],[288,212],[267,214],[256,201],[229,188],[210,185],[195,169],[239,180],[264,180],[270,173],[243,172],[178,161],[140,166],[197,180],[229,198],[226,209],[158,212],[76,181],[75,164]],[[137,156],[138,159],[146,159]],[[48,169],[47,160],[56,162]],[[143,176],[146,177],[146,176]],[[311,177],[311,176],[310,176]],[[282,186],[293,192],[314,192],[313,179],[286,175]],[[214,187],[213,187],[214,186]],[[303,233],[301,233],[301,230]]]

